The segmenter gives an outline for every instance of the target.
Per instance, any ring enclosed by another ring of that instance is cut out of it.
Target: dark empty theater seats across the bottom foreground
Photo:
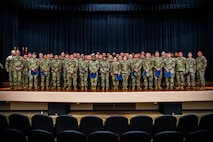
[[[0,115],[0,142],[204,142],[213,141],[213,114],[200,119],[194,114],[162,115],[154,120],[147,115],[84,116],[80,122],[69,115],[52,117],[36,114]]]

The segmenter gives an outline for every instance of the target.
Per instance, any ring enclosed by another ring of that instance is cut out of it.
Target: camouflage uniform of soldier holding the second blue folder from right
[[[161,81],[162,81],[162,74],[163,74],[163,58],[162,57],[155,57],[154,58],[154,73],[157,71],[157,69],[160,69],[160,75],[156,76],[154,75],[154,84],[155,89],[161,89]]]

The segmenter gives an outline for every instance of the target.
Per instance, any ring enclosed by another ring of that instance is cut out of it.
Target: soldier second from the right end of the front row
[[[192,58],[192,53],[188,53],[188,58],[186,59],[186,77],[187,88],[192,87],[195,89],[195,72],[196,72],[196,60]]]

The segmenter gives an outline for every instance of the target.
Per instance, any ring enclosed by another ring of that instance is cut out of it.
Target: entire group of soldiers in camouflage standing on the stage
[[[6,59],[12,89],[146,90],[205,87],[207,59],[201,51],[194,58],[176,52],[73,53],[60,55],[12,50]],[[196,85],[196,81],[199,85]]]

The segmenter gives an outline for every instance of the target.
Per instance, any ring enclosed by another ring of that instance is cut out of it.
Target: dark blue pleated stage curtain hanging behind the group
[[[72,12],[9,7],[2,9],[0,24],[3,63],[13,46],[54,54],[165,50],[187,56],[191,51],[194,57],[202,50],[208,59],[206,78],[213,80],[209,9]]]

